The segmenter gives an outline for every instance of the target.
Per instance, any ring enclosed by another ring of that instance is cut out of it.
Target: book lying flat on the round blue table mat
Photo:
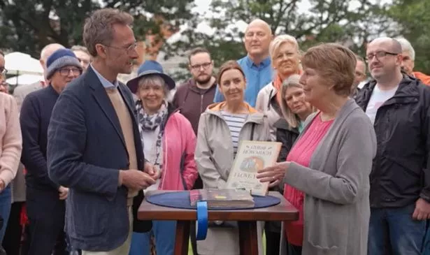
[[[199,201],[206,201],[208,208],[253,207],[254,198],[250,191],[235,189],[194,189],[189,191],[189,203],[195,206]]]

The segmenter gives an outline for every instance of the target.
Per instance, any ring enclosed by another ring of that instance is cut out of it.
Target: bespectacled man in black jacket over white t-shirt
[[[368,255],[421,254],[430,219],[430,87],[401,73],[401,53],[392,38],[369,43],[366,59],[374,80],[356,97],[378,140]]]

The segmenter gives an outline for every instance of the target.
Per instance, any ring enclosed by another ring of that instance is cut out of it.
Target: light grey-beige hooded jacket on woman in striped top
[[[223,189],[233,166],[233,143],[229,126],[221,113],[224,104],[225,102],[209,105],[199,121],[194,159],[203,180],[203,189]],[[248,104],[247,107],[250,114],[243,124],[239,140],[250,140],[252,126],[254,126],[252,140],[270,140],[266,116]],[[260,255],[264,254],[261,242],[262,224],[263,222],[257,224]],[[238,228],[210,227],[206,240],[197,242],[197,247],[199,254],[237,255],[239,254]]]

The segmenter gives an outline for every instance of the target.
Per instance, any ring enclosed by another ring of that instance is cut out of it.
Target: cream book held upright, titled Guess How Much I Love
[[[268,182],[257,179],[257,171],[276,163],[282,143],[242,140],[238,146],[226,189],[245,189],[266,196]]]

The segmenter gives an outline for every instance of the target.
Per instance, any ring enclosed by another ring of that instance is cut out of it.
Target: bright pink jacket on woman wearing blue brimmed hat
[[[164,127],[163,175],[159,189],[192,189],[197,179],[196,135],[188,119],[173,112]]]

